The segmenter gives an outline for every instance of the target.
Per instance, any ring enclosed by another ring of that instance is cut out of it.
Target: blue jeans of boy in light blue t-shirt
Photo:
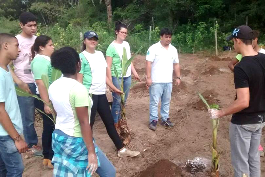
[[[10,136],[0,136],[0,177],[22,177],[21,154]]]

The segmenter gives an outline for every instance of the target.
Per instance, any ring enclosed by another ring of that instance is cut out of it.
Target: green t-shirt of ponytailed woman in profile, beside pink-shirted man
[[[51,84],[52,69],[51,59],[46,55],[37,54],[31,62],[31,70],[35,80],[42,79],[42,75],[46,74],[49,77],[49,84]]]

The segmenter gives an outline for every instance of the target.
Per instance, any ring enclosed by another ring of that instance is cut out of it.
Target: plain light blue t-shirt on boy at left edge
[[[13,123],[16,131],[21,134],[23,131],[22,119],[19,105],[16,97],[14,81],[9,72],[0,67],[0,102],[5,102],[5,109]],[[6,136],[8,133],[0,124],[0,136]]]

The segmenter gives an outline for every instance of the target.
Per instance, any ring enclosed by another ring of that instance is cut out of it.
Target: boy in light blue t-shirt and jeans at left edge
[[[21,114],[16,97],[9,63],[19,55],[16,37],[0,33],[0,174],[22,177],[24,165],[21,153],[28,149],[20,137],[23,131]]]

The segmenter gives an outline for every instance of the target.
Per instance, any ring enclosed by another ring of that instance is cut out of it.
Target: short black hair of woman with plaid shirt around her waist
[[[76,50],[72,47],[62,47],[55,50],[51,56],[51,65],[55,69],[59,69],[63,74],[74,75],[76,65],[80,62],[80,57]]]

